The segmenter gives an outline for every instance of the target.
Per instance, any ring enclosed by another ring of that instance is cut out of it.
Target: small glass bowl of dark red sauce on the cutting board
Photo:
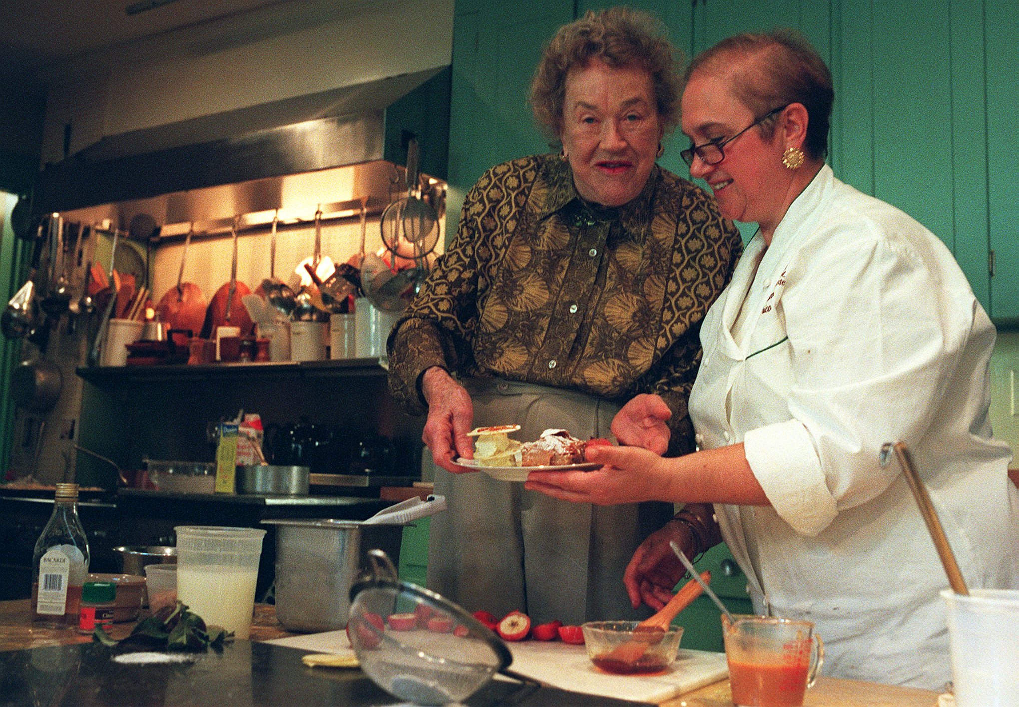
[[[640,621],[588,621],[584,645],[591,662],[613,674],[664,672],[676,660],[683,638],[683,627],[665,632],[635,631]]]

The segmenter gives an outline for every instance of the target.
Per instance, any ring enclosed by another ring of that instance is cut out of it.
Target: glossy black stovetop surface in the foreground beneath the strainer
[[[99,644],[0,652],[0,705],[62,707],[312,707],[399,705],[361,670],[310,668],[305,651],[236,641],[222,653],[178,663],[116,662],[126,651]],[[523,699],[520,699],[523,697]],[[493,681],[468,700],[471,707],[633,707],[622,700],[529,690]]]

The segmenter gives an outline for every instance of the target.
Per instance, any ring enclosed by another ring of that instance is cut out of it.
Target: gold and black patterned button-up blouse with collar
[[[653,392],[673,411],[669,451],[685,453],[700,322],[741,252],[714,201],[658,166],[636,199],[605,208],[579,197],[557,156],[497,165],[389,338],[389,387],[415,414],[432,366],[619,402]]]

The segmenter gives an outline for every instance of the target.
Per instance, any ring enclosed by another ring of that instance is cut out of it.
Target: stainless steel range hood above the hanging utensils
[[[421,145],[422,172],[444,178],[448,118],[449,69],[439,67],[108,137],[40,172],[33,211],[92,211],[380,160],[403,164],[411,135]],[[267,192],[245,212],[280,208],[278,189]]]

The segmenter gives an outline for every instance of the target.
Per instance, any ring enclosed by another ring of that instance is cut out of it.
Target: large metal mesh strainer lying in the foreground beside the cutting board
[[[346,633],[373,683],[419,705],[464,701],[496,672],[520,681],[522,691],[537,689],[506,669],[509,649],[478,619],[435,592],[398,581],[381,550],[368,555],[370,576],[351,588]]]

